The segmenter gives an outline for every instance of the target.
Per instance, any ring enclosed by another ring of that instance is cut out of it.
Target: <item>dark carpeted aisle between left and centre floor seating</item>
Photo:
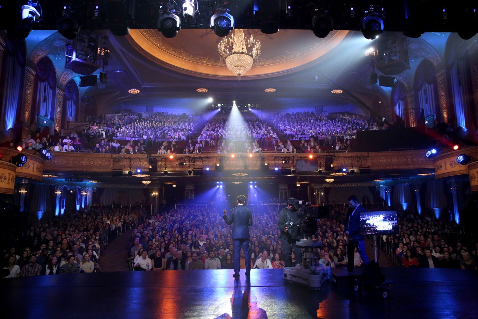
[[[122,272],[129,271],[128,262],[128,245],[130,244],[131,234],[133,229],[130,229],[117,239],[109,243],[100,256],[99,265],[102,272]]]

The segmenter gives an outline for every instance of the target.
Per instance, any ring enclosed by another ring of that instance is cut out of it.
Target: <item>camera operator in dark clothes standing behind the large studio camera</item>
[[[298,222],[297,214],[293,203],[296,199],[289,198],[287,199],[287,207],[283,208],[279,213],[279,220],[277,226],[281,230],[281,239],[282,239],[282,252],[284,254],[285,266],[286,267],[295,267],[295,264],[292,264],[292,250],[295,254],[295,263],[302,263],[302,251],[300,248],[295,247],[297,240],[300,240],[300,226],[287,226],[286,224],[289,221],[294,223]]]

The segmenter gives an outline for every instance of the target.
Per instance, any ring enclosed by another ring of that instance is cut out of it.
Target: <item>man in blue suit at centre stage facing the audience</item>
[[[234,246],[234,278],[239,279],[240,249],[246,256],[246,276],[250,274],[250,254],[249,254],[249,226],[252,226],[252,213],[249,208],[244,207],[246,196],[239,195],[238,205],[231,209],[229,217],[227,210],[224,210],[222,218],[228,225],[232,224],[232,243]]]

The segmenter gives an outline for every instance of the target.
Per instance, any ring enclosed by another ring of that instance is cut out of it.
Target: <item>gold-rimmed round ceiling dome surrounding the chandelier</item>
[[[349,33],[333,31],[321,39],[310,30],[263,34],[246,29],[246,38],[252,35],[261,42],[261,56],[242,79],[281,76],[319,63]],[[167,68],[205,78],[237,79],[219,59],[217,45],[223,38],[213,30],[185,29],[170,39],[153,29],[131,30],[128,38],[143,55]]]

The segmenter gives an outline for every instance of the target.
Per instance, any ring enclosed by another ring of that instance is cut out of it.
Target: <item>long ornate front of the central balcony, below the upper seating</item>
[[[187,171],[191,168],[210,167],[216,169],[219,158],[224,159],[224,170],[241,171],[247,164],[247,170],[259,170],[261,157],[269,164],[271,170],[275,166],[293,167],[295,159],[307,159],[308,154],[295,154],[285,156],[277,154],[254,155],[250,158],[247,154],[236,154],[231,158],[230,154],[175,154],[174,159],[166,155],[153,154],[158,161],[158,172]],[[313,154],[318,159],[318,167],[325,165],[326,157],[333,157],[334,167],[354,166],[355,168],[370,168],[372,170],[403,170],[403,169],[433,169],[434,162],[424,157],[424,150],[401,151],[401,152],[374,152],[374,153],[319,153]],[[282,164],[282,158],[289,157],[289,164]],[[293,159],[292,159],[293,158]],[[179,163],[185,162],[185,165]],[[143,172],[149,169],[149,159],[146,154],[123,155],[123,154],[92,154],[92,153],[67,153],[54,152],[53,159],[45,162],[45,171],[85,171],[85,172],[109,172],[111,170],[129,169],[134,171],[140,167]],[[317,167],[317,169],[318,169]]]

